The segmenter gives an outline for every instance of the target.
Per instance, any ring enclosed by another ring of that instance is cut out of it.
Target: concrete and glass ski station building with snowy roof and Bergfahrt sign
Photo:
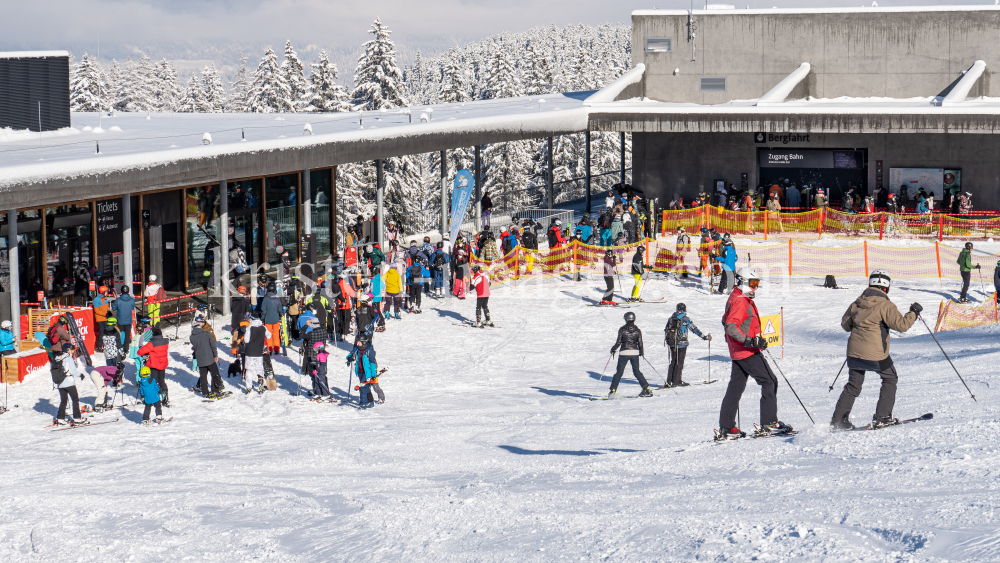
[[[924,182],[938,198],[969,190],[1000,208],[998,55],[994,6],[641,10],[632,69],[596,92],[99,115],[70,113],[68,53],[0,53],[2,300],[15,311],[36,301],[29,286],[72,300],[56,274],[84,262],[116,285],[157,274],[193,290],[215,269],[220,287],[224,231],[249,263],[275,263],[278,246],[293,263],[303,248],[324,260],[338,246],[340,164],[590,131],[631,133],[632,183],[662,202],[728,184]],[[442,171],[443,200],[455,172]]]

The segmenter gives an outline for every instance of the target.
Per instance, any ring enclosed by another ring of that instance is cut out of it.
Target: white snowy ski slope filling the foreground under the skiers
[[[630,310],[665,376],[662,330],[683,300],[717,337],[711,370],[721,381],[650,399],[589,400],[607,390],[612,368],[598,379],[624,312],[585,306],[600,299],[600,280],[495,287],[497,329],[455,326],[473,318],[473,299],[425,298],[423,314],[376,334],[387,402],[368,411],[292,396],[291,352],[279,391],[202,402],[187,390],[196,378],[178,342],[167,373],[172,422],[143,427],[130,408],[117,423],[52,433],[42,427],[58,395],[39,373],[10,388],[19,406],[0,415],[0,560],[1000,559],[1000,332],[939,335],[978,403],[919,321],[894,334],[894,414],[934,419],[830,434],[846,382],[845,373],[828,392],[844,359],[840,318],[865,284],[838,281],[849,289],[771,278],[758,293],[762,314],[784,307],[777,361],[817,421],[779,376],[779,415],[801,431],[790,438],[712,443],[729,375],[724,297],[697,279],[652,280],[644,297],[667,304]],[[957,294],[945,284],[904,281],[890,297],[904,311],[921,302],[933,326],[938,302]],[[982,298],[978,284],[972,297]],[[707,352],[692,342],[686,380],[706,378]],[[343,355],[330,366],[341,393]],[[79,388],[92,403],[89,381]],[[750,382],[744,395],[744,428],[757,420],[758,389]],[[639,392],[629,372],[620,392]],[[870,420],[877,396],[870,374],[855,423]]]

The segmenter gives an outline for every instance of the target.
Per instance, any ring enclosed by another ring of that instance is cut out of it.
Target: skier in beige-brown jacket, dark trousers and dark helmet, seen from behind
[[[899,420],[892,417],[898,377],[892,356],[889,355],[889,331],[909,330],[917,322],[923,307],[919,303],[913,303],[910,310],[901,315],[889,300],[891,284],[892,279],[885,270],[872,272],[868,276],[868,289],[851,303],[840,320],[840,326],[850,332],[851,336],[847,339],[848,379],[833,411],[833,420],[830,422],[833,430],[854,428],[848,417],[854,406],[854,399],[861,394],[866,371],[874,371],[882,378],[882,390],[879,392],[870,427],[874,429],[899,424]]]

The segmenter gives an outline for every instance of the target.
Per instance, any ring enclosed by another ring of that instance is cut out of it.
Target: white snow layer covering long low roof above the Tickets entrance
[[[143,169],[188,159],[343,142],[378,143],[427,133],[483,133],[488,138],[495,131],[537,130],[539,137],[546,136],[546,130],[583,131],[587,127],[583,101],[590,94],[545,94],[344,113],[109,116],[74,112],[72,127],[60,131],[40,134],[0,130],[0,188]],[[423,114],[429,116],[428,121],[422,121]],[[306,124],[312,134],[306,130]],[[203,144],[205,133],[211,135],[210,145]],[[439,149],[428,147],[427,152]],[[330,163],[333,164],[340,163]],[[279,172],[287,171],[275,171]]]

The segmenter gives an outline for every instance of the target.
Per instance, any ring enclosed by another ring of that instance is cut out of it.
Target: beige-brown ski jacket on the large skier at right
[[[889,329],[906,332],[916,321],[917,314],[912,311],[899,314],[899,309],[881,290],[866,289],[840,321],[840,326],[851,333],[847,340],[848,357],[876,362],[888,358]]]

